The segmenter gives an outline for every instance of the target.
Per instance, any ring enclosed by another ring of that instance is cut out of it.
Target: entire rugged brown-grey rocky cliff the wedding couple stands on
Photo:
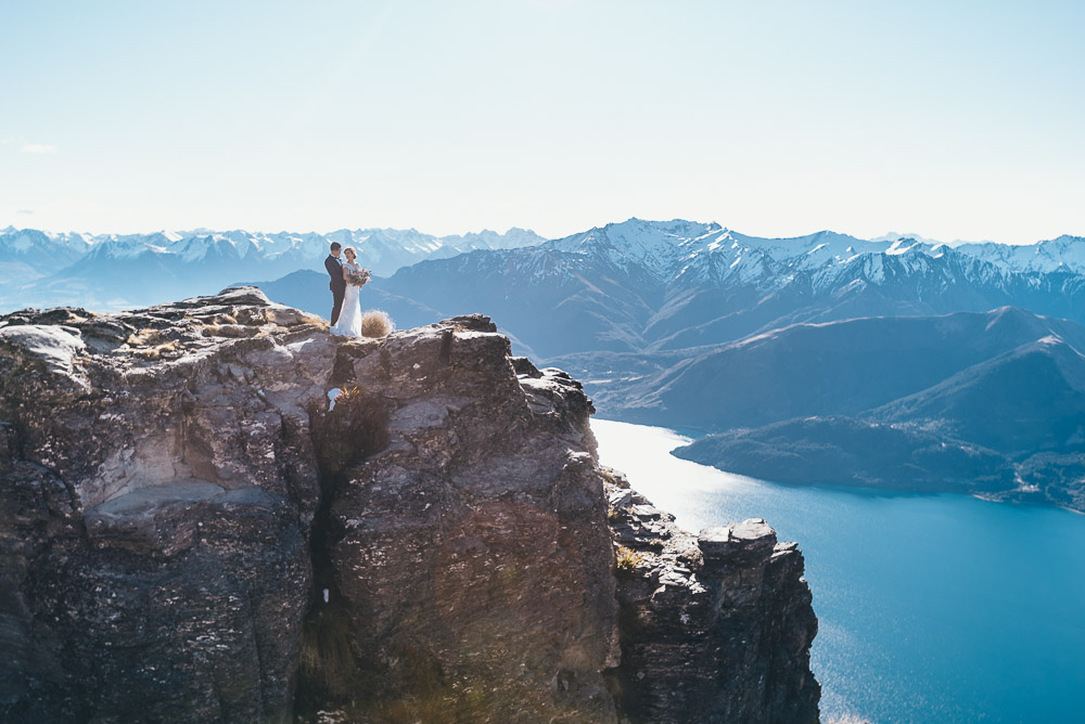
[[[677,530],[590,412],[482,316],[0,318],[0,717],[816,721],[799,552]]]

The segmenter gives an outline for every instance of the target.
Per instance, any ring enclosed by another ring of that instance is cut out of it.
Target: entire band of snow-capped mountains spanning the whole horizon
[[[413,229],[91,235],[9,227],[0,230],[0,309],[59,305],[115,309],[216,292],[231,283],[272,280],[303,269],[320,271],[333,241],[355,246],[376,275],[401,270],[390,281],[390,290],[441,302],[434,308],[472,301],[496,302],[503,309],[507,297],[515,306],[518,295],[541,298],[571,288],[579,289],[582,299],[599,299],[600,294],[611,300],[622,298],[621,307],[639,307],[625,313],[642,321],[617,335],[631,335],[627,347],[631,349],[682,346],[698,338],[712,344],[722,335],[733,338],[730,335],[770,322],[761,319],[768,310],[793,307],[803,298],[824,297],[814,305],[818,308],[842,302],[847,307],[859,297],[867,302],[875,297],[895,300],[892,309],[867,303],[868,311],[885,313],[907,312],[908,305],[923,311],[982,311],[987,302],[993,307],[1027,302],[1042,308],[1035,311],[1076,319],[1081,301],[1068,293],[1085,275],[1085,238],[1080,236],[1024,246],[949,245],[903,234],[861,240],[831,231],[765,238],[680,219],[629,219],[552,241],[521,229],[438,237]],[[444,261],[412,268],[435,260]],[[455,282],[439,292],[445,280],[434,276]],[[465,288],[464,279],[471,280],[468,286],[478,288]],[[627,286],[629,293],[615,289],[612,297],[603,292],[611,284]],[[897,288],[902,285],[909,290]],[[495,290],[503,292],[490,299]],[[1059,295],[1061,303],[1055,303]],[[786,297],[794,299],[784,302]],[[1039,298],[1046,300],[1037,302]],[[757,309],[748,309],[746,301],[753,300]],[[705,324],[710,328],[703,328]],[[732,329],[725,334],[722,327]],[[678,337],[661,340],[664,332]]]

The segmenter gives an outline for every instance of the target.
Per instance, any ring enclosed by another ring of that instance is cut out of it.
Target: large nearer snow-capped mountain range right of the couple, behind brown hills
[[[764,238],[715,223],[630,219],[416,264],[381,288],[435,313],[492,313],[544,359],[660,352],[870,315],[1017,306],[1085,320],[1085,238],[953,247],[829,231]]]

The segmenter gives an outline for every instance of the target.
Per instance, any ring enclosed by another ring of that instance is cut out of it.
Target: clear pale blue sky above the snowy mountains
[[[0,227],[1085,235],[1085,3],[0,3]]]

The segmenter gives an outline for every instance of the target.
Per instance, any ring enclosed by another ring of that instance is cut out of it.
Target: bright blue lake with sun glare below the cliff
[[[824,721],[1085,721],[1085,516],[777,486],[595,419],[599,458],[684,528],[765,518],[806,557]]]

